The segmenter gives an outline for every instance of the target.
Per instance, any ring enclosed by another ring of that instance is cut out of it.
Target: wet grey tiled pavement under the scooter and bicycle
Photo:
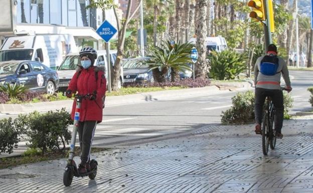
[[[62,182],[65,159],[2,169],[0,192],[311,193],[312,118],[285,121],[285,137],[268,156],[252,125],[209,125],[93,154],[96,179],[74,178],[69,187]]]

